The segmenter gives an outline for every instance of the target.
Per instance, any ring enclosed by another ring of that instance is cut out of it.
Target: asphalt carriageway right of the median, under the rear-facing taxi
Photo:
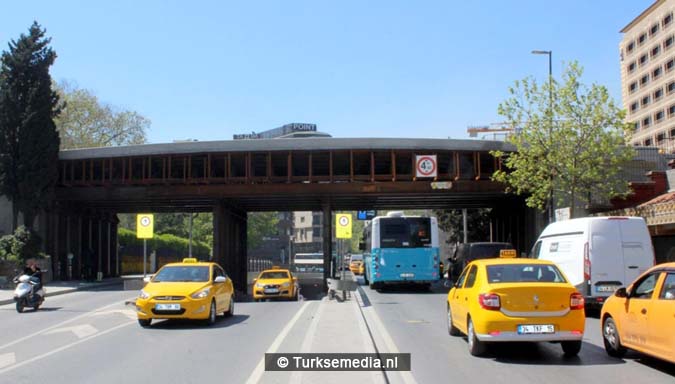
[[[358,281],[362,283],[360,277]],[[586,320],[584,344],[576,358],[564,358],[560,345],[549,343],[500,344],[490,348],[486,357],[473,357],[466,338],[448,335],[447,291],[441,285],[431,292],[361,287],[366,305],[369,302],[375,309],[398,350],[411,353],[412,374],[418,383],[675,382],[673,364],[637,353],[624,359],[609,357],[597,318]]]

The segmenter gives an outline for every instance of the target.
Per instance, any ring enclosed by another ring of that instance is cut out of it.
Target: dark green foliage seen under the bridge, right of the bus
[[[466,227],[467,241],[489,241],[490,239],[490,209],[467,209]],[[461,209],[434,210],[438,219],[438,227],[448,234],[448,244],[464,242],[464,223]]]

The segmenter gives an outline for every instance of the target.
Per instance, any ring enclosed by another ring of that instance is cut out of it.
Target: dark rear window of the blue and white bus
[[[431,247],[431,224],[427,217],[386,218],[380,222],[382,248]]]

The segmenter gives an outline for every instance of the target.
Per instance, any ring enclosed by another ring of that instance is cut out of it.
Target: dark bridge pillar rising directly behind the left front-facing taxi
[[[213,261],[232,279],[234,289],[246,292],[246,212],[226,201],[213,208]]]

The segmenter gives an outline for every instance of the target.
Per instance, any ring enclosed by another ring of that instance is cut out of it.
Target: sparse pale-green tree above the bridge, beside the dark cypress
[[[146,142],[150,120],[139,113],[101,103],[91,91],[65,81],[55,88],[63,100],[61,114],[55,120],[62,149]]]

